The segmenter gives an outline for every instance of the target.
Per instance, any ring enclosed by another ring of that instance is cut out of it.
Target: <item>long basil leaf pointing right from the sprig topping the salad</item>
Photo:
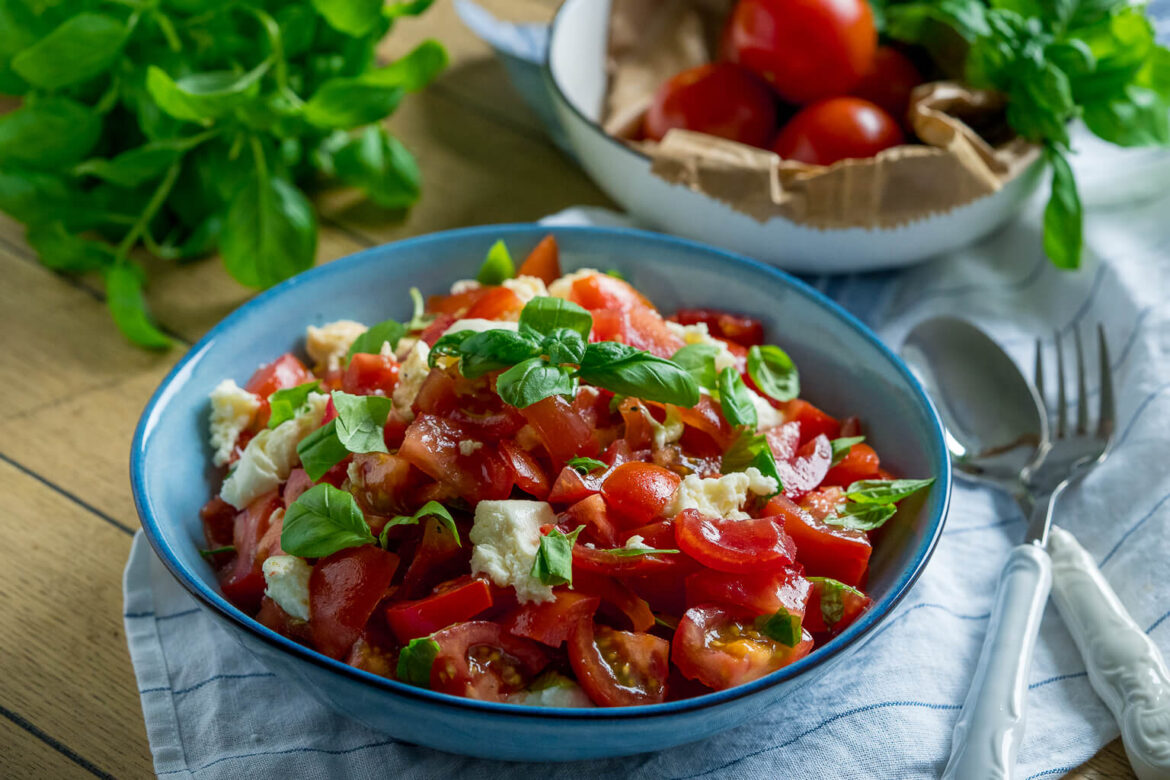
[[[585,347],[578,375],[621,395],[687,408],[698,403],[698,385],[679,364],[617,341]]]

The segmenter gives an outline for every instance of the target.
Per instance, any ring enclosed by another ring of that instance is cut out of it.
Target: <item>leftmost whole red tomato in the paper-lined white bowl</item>
[[[766,147],[776,133],[776,98],[743,68],[716,62],[683,70],[662,84],[646,112],[646,137],[694,130]]]

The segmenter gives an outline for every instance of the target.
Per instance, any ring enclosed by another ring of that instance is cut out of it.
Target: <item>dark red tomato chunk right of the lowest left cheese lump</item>
[[[322,558],[309,575],[309,627],[317,650],[333,658],[349,651],[398,568],[398,555],[366,545]]]

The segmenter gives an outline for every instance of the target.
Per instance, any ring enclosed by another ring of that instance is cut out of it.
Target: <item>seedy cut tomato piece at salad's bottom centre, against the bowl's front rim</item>
[[[577,621],[569,663],[589,697],[603,706],[658,704],[666,699],[670,643],[652,634],[619,631]]]

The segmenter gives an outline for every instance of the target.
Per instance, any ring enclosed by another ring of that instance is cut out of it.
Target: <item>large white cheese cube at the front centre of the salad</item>
[[[541,548],[541,526],[556,520],[543,501],[481,501],[468,534],[475,545],[472,573],[511,586],[521,603],[550,601],[552,588],[532,577],[532,561]]]

